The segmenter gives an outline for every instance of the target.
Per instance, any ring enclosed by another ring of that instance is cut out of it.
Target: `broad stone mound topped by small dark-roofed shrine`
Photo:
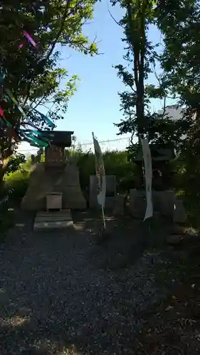
[[[43,131],[42,134],[41,138],[51,140],[51,146],[46,148],[45,161],[32,165],[22,209],[46,209],[46,196],[56,192],[62,195],[63,209],[86,209],[76,162],[73,158],[66,161],[65,147],[70,147],[73,132]]]

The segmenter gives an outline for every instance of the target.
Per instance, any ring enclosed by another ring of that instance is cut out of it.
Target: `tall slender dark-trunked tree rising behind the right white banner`
[[[115,5],[118,1],[112,1]],[[122,65],[116,65],[117,76],[128,88],[125,92],[118,93],[121,101],[121,109],[125,119],[115,124],[119,128],[119,134],[148,133],[149,143],[173,143],[177,152],[181,149],[181,137],[188,129],[188,122],[174,122],[166,116],[166,99],[169,95],[167,82],[163,80],[163,75],[157,75],[155,66],[159,61],[157,46],[147,40],[147,31],[150,24],[157,23],[157,5],[159,1],[148,0],[125,0],[119,1],[125,9],[125,16],[119,25],[124,28],[127,54],[124,59],[128,66],[132,66],[130,71]],[[144,84],[149,73],[153,72],[157,78],[157,86]],[[150,99],[163,99],[163,114],[150,111]],[[131,140],[130,151],[135,155],[137,145]]]

